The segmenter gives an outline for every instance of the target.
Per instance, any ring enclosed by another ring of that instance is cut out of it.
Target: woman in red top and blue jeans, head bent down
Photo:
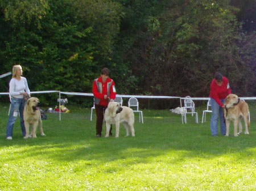
[[[212,105],[212,118],[210,118],[210,130],[212,136],[218,136],[218,116],[220,116],[221,134],[226,134],[226,125],[224,122],[223,108],[226,96],[231,94],[229,80],[222,77],[220,73],[216,73],[212,83],[210,83],[210,104]]]

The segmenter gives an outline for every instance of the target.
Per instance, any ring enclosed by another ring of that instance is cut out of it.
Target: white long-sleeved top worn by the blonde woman
[[[20,92],[25,92],[30,95],[30,89],[28,88],[27,79],[20,77],[18,80],[16,78],[11,78],[9,83],[9,93],[11,96],[16,98],[23,98],[24,95],[21,95]]]

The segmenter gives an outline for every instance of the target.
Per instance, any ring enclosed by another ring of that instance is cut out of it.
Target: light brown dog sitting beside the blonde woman
[[[27,100],[27,104],[25,105],[23,112],[23,119],[26,128],[25,139],[31,136],[36,138],[36,128],[38,127],[38,124],[41,135],[45,136],[43,132],[41,113],[39,111],[39,99],[37,97],[30,97],[30,99]],[[30,125],[32,126],[31,134],[29,134]]]

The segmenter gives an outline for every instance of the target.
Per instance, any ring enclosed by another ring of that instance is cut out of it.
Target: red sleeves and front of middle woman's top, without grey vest
[[[108,105],[108,99],[104,99],[104,95],[108,95],[108,90],[107,90],[108,86],[107,86],[107,84],[108,84],[108,82],[111,82],[111,80],[112,79],[107,78],[106,82],[104,83],[104,82],[102,82],[102,78],[101,77],[97,79],[97,82],[100,82],[102,84],[102,92],[98,91],[96,80],[93,81],[92,92],[93,92],[93,95],[95,97],[101,99],[100,103],[99,103],[100,105],[105,105],[105,106]],[[115,95],[116,95],[116,93],[115,93],[115,83],[113,81],[112,85],[110,86],[109,98],[114,100],[115,99]]]

